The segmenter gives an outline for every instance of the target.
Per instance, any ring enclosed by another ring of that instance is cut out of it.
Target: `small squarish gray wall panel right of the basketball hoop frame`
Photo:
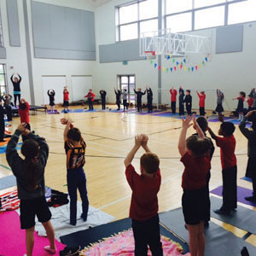
[[[216,53],[242,51],[243,25],[226,26],[216,30]]]

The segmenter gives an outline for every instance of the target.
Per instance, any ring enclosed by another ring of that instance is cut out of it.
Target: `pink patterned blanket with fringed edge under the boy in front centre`
[[[161,242],[163,245],[164,255],[170,256],[181,256],[182,247],[171,241],[165,236],[161,236]],[[104,239],[104,241],[93,244],[91,247],[84,248],[84,256],[102,256],[102,255],[111,255],[111,256],[133,256],[134,255],[134,238],[132,230],[127,230],[119,235],[109,237]],[[148,250],[148,256],[152,254]],[[185,254],[189,256],[190,253]],[[184,255],[183,255],[184,256]]]

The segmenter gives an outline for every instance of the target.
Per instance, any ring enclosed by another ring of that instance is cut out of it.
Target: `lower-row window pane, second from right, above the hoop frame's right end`
[[[195,29],[224,26],[224,6],[195,11]]]

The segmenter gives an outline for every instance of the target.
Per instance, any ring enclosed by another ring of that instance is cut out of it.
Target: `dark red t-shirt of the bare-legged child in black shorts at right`
[[[181,158],[185,166],[182,188],[186,190],[202,189],[207,184],[207,173],[211,169],[210,154],[203,157],[194,157],[186,152]]]

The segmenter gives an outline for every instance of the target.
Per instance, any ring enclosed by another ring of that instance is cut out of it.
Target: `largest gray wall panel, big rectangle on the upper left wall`
[[[32,1],[36,58],[96,60],[94,13]]]

